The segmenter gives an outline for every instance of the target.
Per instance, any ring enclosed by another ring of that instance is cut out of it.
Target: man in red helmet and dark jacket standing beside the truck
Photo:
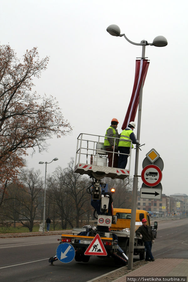
[[[136,230],[136,235],[140,236],[140,238],[144,241],[144,246],[146,248],[145,260],[154,261],[155,259],[151,252],[152,244],[155,242],[154,235],[152,233],[151,227],[147,225],[147,220],[145,218],[142,219],[142,226]]]

